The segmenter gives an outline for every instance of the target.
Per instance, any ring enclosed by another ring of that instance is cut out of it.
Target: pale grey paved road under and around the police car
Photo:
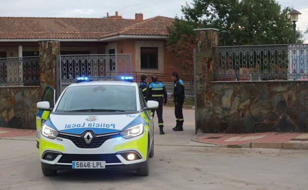
[[[173,110],[165,114],[166,135],[156,128],[149,177],[104,171],[44,177],[33,137],[19,137],[0,139],[0,190],[308,190],[308,151],[210,147],[190,141],[192,110],[185,111],[184,132],[171,131]]]

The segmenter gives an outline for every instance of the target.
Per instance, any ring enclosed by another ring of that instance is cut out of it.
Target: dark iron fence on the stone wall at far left
[[[39,56],[0,58],[0,86],[39,85]]]

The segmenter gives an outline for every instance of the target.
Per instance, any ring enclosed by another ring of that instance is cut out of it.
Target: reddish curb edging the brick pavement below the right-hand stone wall
[[[238,145],[242,148],[267,148],[267,149],[305,149],[308,143],[274,143],[274,142],[250,142]]]

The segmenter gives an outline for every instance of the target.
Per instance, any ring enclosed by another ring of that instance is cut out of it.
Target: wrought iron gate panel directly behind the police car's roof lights
[[[77,76],[131,74],[130,54],[61,55],[62,83],[76,82]]]

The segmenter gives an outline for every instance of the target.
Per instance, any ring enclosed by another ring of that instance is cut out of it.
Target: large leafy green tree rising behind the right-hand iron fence
[[[221,36],[229,45],[292,43],[293,27],[288,16],[290,7],[281,9],[275,0],[193,0],[182,6],[184,18],[205,28],[229,31]],[[297,42],[303,43],[298,32]],[[221,43],[222,44],[222,43]]]

